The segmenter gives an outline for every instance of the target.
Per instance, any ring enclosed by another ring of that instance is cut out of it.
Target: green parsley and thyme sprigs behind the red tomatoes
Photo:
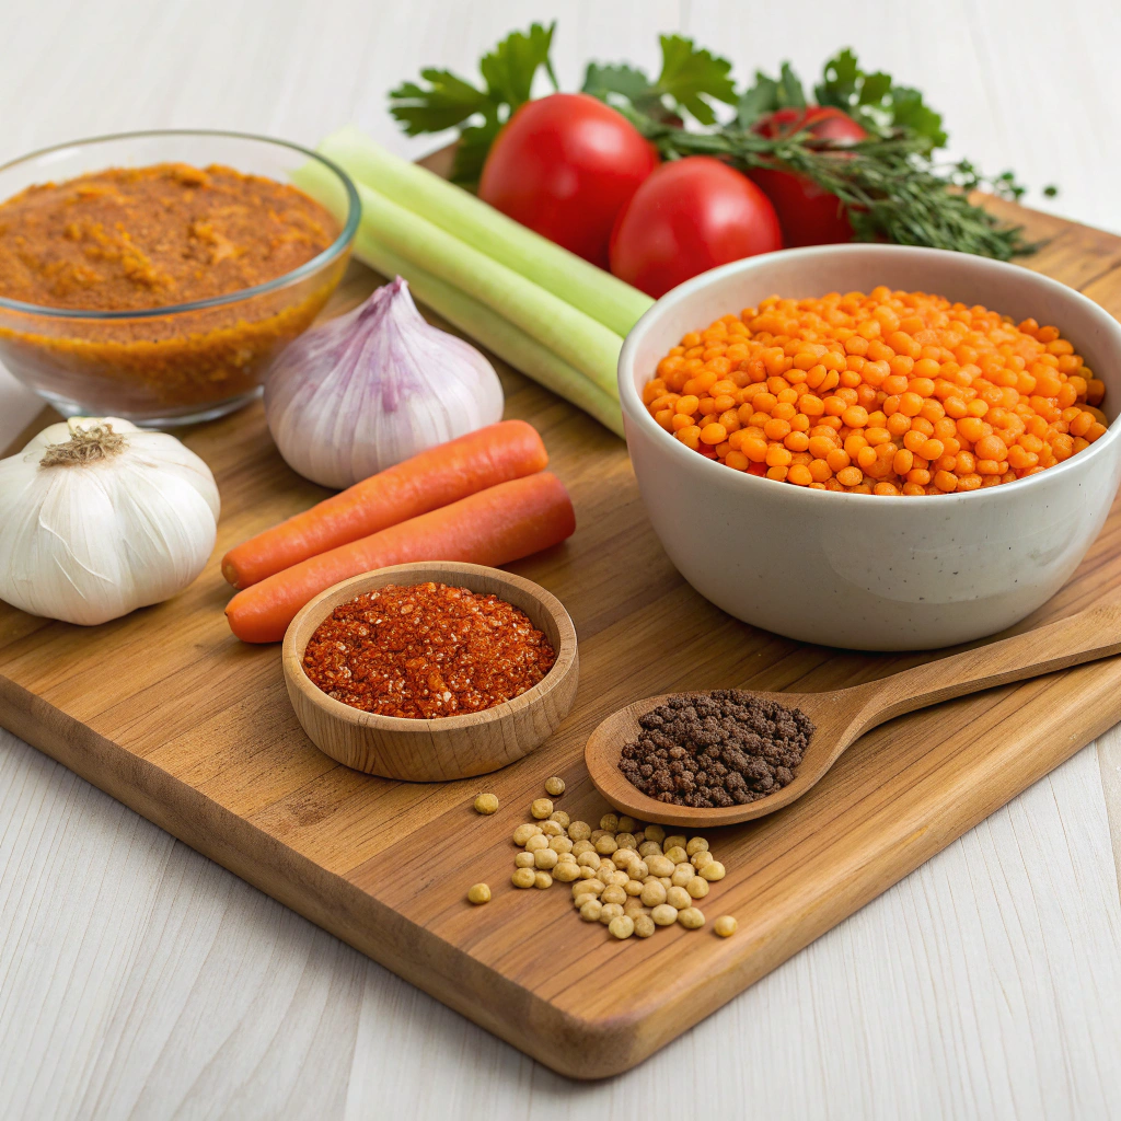
[[[409,136],[458,129],[453,178],[474,187],[502,124],[532,96],[538,72],[558,89],[549,61],[555,27],[534,24],[503,39],[480,62],[481,85],[446,70],[423,71],[424,84],[406,82],[391,91],[390,112]],[[1000,221],[970,197],[985,191],[1019,200],[1025,187],[1015,175],[985,176],[969,160],[939,159],[947,139],[942,117],[917,90],[898,85],[889,74],[861,70],[852,50],[825,64],[813,91],[814,104],[842,110],[868,133],[861,141],[839,142],[807,130],[782,137],[754,131],[776,110],[810,104],[789,63],[777,77],[757,73],[751,85],[738,90],[728,59],[679,35],[664,35],[660,43],[656,80],[633,66],[591,63],[582,92],[622,112],[663,159],[705,155],[742,170],[778,167],[805,175],[836,195],[859,241],[998,260],[1036,249],[1020,226]],[[1054,195],[1055,188],[1045,194]]]

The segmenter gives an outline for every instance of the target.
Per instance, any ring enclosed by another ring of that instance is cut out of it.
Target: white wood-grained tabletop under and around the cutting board
[[[1111,0],[4,6],[0,158],[143,127],[314,143],[385,93],[560,17],[583,62],[683,30],[743,76],[852,44],[956,151],[1121,232]],[[1035,196],[1036,205],[1043,202]],[[0,445],[37,402],[0,371]],[[1112,818],[1112,821],[1111,821]],[[1112,826],[1112,841],[1111,841]],[[567,1082],[0,731],[2,1118],[1121,1115],[1114,730],[629,1075]]]

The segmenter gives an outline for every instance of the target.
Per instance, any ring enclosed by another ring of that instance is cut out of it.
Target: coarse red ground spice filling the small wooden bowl
[[[327,696],[382,716],[433,720],[493,708],[556,661],[525,612],[447,584],[387,584],[342,603],[304,652]]]

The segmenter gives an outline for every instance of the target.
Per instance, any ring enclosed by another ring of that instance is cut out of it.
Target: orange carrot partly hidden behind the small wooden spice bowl
[[[576,528],[572,500],[543,471],[309,557],[239,592],[226,605],[244,642],[279,642],[299,609],[350,576],[413,560],[501,565],[557,545]]]

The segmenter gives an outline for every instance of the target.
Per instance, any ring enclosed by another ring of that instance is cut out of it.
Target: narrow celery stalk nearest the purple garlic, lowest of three
[[[622,436],[619,402],[501,315],[386,249],[364,226],[355,239],[354,256],[383,276],[405,277],[417,299],[453,326]]]

